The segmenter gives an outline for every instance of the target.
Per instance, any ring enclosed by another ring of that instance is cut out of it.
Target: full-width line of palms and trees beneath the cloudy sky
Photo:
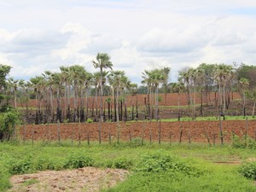
[[[36,124],[56,121],[84,122],[90,118],[99,122],[99,129],[103,121],[137,119],[137,94],[146,95],[143,109],[145,119],[160,118],[159,93],[165,93],[166,97],[167,93],[176,92],[177,106],[180,105],[180,94],[185,93],[193,119],[204,114],[203,105],[213,105],[216,115],[224,116],[225,111],[230,108],[234,91],[241,93],[244,115],[247,114],[247,100],[253,101],[255,108],[255,66],[202,63],[199,67],[181,70],[176,83],[169,82],[170,67],[155,67],[143,71],[142,84],[138,86],[131,83],[124,71],[113,69],[110,56],[106,53],[98,53],[91,64],[98,72],[90,73],[82,66],[73,65],[61,66],[58,73],[45,71],[29,81],[3,79],[6,95],[15,108],[17,102],[20,102],[25,109],[25,120],[31,113],[27,103],[30,98],[34,98]],[[3,82],[1,80],[0,83]],[[212,92],[215,93],[214,99],[210,96]],[[133,98],[129,110],[127,95]],[[196,97],[201,98],[199,110]]]

